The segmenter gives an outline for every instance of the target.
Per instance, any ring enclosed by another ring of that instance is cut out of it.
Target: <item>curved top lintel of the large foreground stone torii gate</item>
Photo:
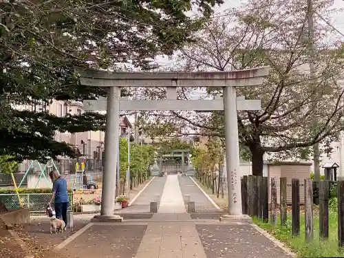
[[[94,87],[244,87],[261,85],[269,67],[230,72],[108,72],[76,68],[82,85]]]

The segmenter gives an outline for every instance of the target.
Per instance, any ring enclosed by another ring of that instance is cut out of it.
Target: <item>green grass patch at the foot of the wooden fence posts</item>
[[[273,227],[268,223],[263,223],[257,218],[252,218],[253,222],[260,228],[267,230],[277,239],[283,241],[299,257],[344,257],[344,250],[338,249],[337,235],[337,212],[329,213],[329,238],[322,240],[319,237],[319,214],[314,213],[314,240],[310,243],[305,242],[305,223],[304,216],[300,215],[300,236],[292,237],[292,218],[288,215],[286,226],[279,225],[280,219],[277,218],[277,226]]]

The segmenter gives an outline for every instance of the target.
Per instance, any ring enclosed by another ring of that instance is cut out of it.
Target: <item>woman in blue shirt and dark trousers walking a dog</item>
[[[56,217],[63,219],[65,226],[67,226],[67,209],[69,204],[67,180],[65,180],[65,178],[61,178],[58,171],[51,171],[49,176],[53,182],[52,198],[50,199],[50,203],[54,200]]]

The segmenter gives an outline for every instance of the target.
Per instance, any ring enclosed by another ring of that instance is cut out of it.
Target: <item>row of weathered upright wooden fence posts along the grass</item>
[[[241,205],[243,214],[270,222],[277,225],[277,213],[279,223],[287,222],[287,178],[279,180],[279,206],[277,205],[277,180],[270,178],[270,205],[268,198],[268,178],[254,175],[244,175],[241,178]],[[319,183],[319,235],[327,239],[329,235],[329,199],[330,182],[323,180]],[[311,179],[304,180],[304,219],[305,241],[312,241],[314,235],[313,222],[313,191],[314,182]],[[300,234],[300,182],[292,179],[292,235]],[[336,198],[338,200],[338,246],[344,247],[344,181],[337,182]],[[270,210],[270,211],[269,211]],[[269,218],[270,215],[270,218]]]

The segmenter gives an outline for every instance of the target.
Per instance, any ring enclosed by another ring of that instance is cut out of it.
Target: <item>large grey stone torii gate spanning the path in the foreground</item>
[[[237,110],[259,110],[260,100],[237,98],[236,87],[261,85],[269,67],[233,72],[107,72],[78,69],[82,85],[109,87],[107,99],[85,100],[85,110],[107,111],[102,207],[94,220],[122,221],[114,215],[120,110],[224,110],[229,215],[241,215]],[[120,87],[166,87],[166,100],[120,98]],[[178,100],[177,87],[222,87],[223,99]]]

